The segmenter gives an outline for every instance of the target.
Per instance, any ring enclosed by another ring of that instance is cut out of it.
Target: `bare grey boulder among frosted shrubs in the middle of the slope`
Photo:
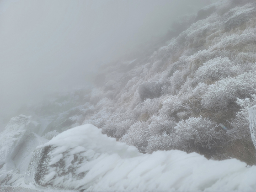
[[[144,82],[139,85],[139,96],[142,101],[154,99],[161,95],[162,85],[159,82]]]

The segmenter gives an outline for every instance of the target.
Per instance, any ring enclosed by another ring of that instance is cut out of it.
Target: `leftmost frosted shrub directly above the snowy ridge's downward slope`
[[[148,126],[149,124],[143,121],[134,123],[120,141],[135,146],[140,152],[146,152],[149,138]]]

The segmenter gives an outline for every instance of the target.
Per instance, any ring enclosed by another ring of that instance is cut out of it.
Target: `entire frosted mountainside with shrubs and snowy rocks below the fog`
[[[255,105],[256,2],[222,0],[102,66],[95,87],[21,109],[0,133],[0,185],[253,192]]]

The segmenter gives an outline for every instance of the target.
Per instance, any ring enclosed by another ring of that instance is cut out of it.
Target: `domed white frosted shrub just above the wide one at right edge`
[[[195,80],[197,82],[204,82],[205,80],[214,81],[228,76],[235,76],[240,71],[240,66],[232,63],[229,58],[217,57],[199,67],[195,73]]]

